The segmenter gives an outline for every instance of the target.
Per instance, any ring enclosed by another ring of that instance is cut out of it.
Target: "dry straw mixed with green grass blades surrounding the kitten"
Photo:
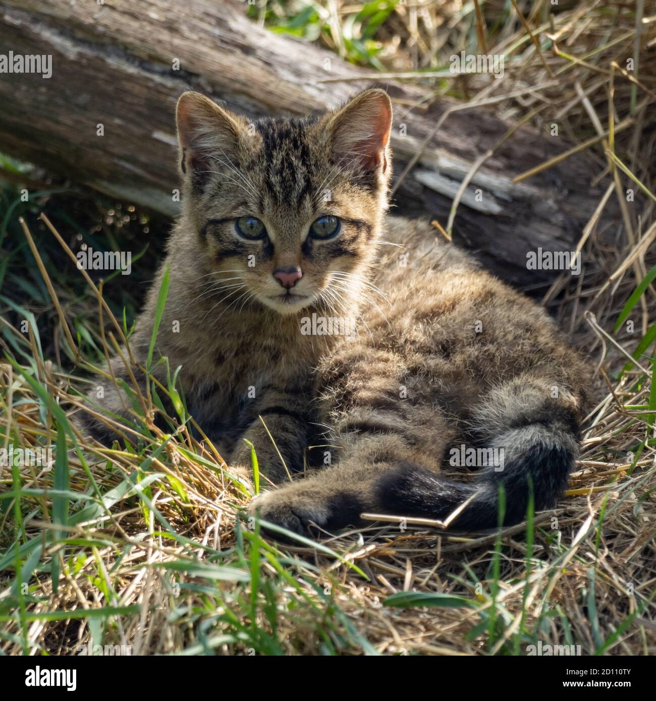
[[[289,5],[259,16],[288,20]],[[534,3],[525,19],[536,46],[501,2],[482,6],[485,27],[476,27],[476,4],[413,2],[393,7],[366,44],[380,68],[434,86],[435,99],[506,96],[493,103],[502,116],[547,130],[557,123],[570,144],[587,144],[591,182],[607,184],[582,231],[583,273],[563,273],[544,297],[589,351],[602,386],[562,505],[500,533],[376,523],[279,550],[241,517],[248,490],[187,430],[165,436],[145,414],[145,438],[131,450],[79,435],[64,411],[79,406],[85,381],[43,355],[29,305],[17,312],[2,298],[0,447],[60,447],[55,470],[0,468],[3,653],[71,654],[91,642],[132,654],[526,654],[538,640],[583,654],[656,653],[653,285],[615,329],[656,266],[656,6],[644,5],[639,23],[628,4],[562,2],[549,18],[551,5]],[[348,19],[361,6],[327,7],[315,34],[349,55],[361,29],[355,22],[347,32]],[[504,54],[503,81],[417,75],[441,71],[463,48]],[[619,222],[605,216],[611,198]],[[79,299],[62,289],[54,297],[65,343]],[[87,311],[99,348],[128,335],[116,322],[103,338]],[[32,319],[29,333],[16,315]],[[78,345],[68,343],[69,359]]]

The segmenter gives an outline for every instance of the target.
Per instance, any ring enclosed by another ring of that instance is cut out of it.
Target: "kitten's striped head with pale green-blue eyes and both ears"
[[[183,216],[225,282],[216,294],[291,314],[356,289],[387,208],[390,130],[379,89],[319,118],[254,122],[182,95]]]

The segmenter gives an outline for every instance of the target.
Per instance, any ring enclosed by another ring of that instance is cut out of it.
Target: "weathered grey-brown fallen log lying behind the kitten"
[[[258,27],[246,7],[237,0],[0,0],[0,54],[52,56],[49,79],[0,74],[0,151],[175,215],[174,111],[183,90],[203,90],[255,118],[334,107],[371,83],[330,80],[368,72]],[[454,103],[408,111],[427,91],[386,85],[396,103],[398,176]],[[446,224],[471,163],[508,128],[481,108],[450,114],[396,192],[394,211]],[[581,156],[512,184],[565,149],[563,139],[519,128],[476,172],[460,203],[454,239],[518,285],[549,280],[551,271],[527,271],[526,252],[572,250],[601,196]]]

